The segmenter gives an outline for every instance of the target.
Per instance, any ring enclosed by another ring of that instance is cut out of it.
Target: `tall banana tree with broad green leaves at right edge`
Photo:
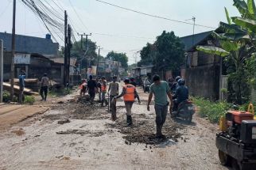
[[[227,51],[229,55],[225,55],[225,60],[230,66],[229,79],[235,84],[235,96],[238,103],[242,103],[241,93],[242,85],[251,78],[245,74],[246,60],[252,57],[256,51],[255,33],[256,33],[256,7],[254,0],[233,0],[234,6],[239,10],[241,17],[230,17],[225,8],[227,23],[220,22],[219,27],[223,30],[223,34],[213,32],[212,35],[219,40],[219,48],[212,51],[212,47],[197,47],[197,50],[204,51],[209,54],[221,54],[221,51]],[[246,88],[246,87],[245,87]]]

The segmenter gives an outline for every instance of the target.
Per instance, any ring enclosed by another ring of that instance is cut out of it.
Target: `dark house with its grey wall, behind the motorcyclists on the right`
[[[217,28],[215,32],[221,33],[221,29]],[[198,45],[218,47],[219,41],[215,40],[211,32],[202,32],[194,37],[194,45],[191,43],[192,36],[181,38],[186,47],[186,66],[181,72],[186,85],[188,85],[189,93],[192,96],[200,96],[209,100],[222,99],[221,89],[227,89],[226,68],[223,66],[223,58],[196,50]]]

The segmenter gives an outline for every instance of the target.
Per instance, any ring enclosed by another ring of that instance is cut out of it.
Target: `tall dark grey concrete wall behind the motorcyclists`
[[[218,65],[187,68],[185,75],[190,95],[219,100]]]

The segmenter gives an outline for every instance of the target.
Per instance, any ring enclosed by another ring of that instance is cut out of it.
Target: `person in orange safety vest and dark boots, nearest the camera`
[[[122,88],[122,93],[119,96],[115,96],[114,99],[118,99],[123,96],[123,100],[126,105],[126,123],[128,126],[133,124],[133,120],[131,117],[131,108],[133,107],[135,98],[138,99],[138,103],[141,103],[141,100],[138,96],[136,88],[134,85],[130,84],[130,80],[128,78],[124,81],[125,85]]]

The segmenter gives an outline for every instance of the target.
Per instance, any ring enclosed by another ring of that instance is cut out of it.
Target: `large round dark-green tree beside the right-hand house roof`
[[[174,32],[162,32],[153,43],[147,43],[141,51],[138,66],[153,64],[154,71],[180,70],[184,64],[184,44]],[[164,64],[163,64],[164,63]]]

